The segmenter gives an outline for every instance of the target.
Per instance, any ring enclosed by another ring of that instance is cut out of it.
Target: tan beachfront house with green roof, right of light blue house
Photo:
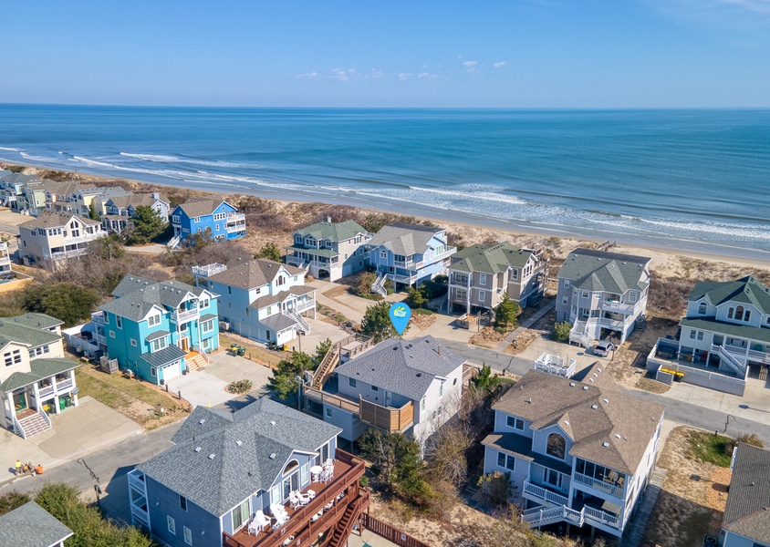
[[[497,307],[507,294],[521,307],[536,304],[546,290],[548,261],[540,249],[510,243],[472,245],[454,253],[449,267],[449,303],[470,314]]]

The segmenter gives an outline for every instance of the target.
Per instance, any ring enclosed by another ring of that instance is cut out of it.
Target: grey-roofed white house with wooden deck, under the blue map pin
[[[430,335],[385,340],[337,366],[321,388],[308,388],[308,410],[342,428],[342,439],[375,427],[423,446],[457,413],[464,363]]]

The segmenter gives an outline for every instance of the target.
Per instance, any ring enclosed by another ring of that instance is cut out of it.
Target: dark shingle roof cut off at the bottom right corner
[[[722,527],[770,543],[770,452],[739,443]]]

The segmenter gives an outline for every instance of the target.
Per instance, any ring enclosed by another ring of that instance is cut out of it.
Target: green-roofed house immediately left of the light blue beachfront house
[[[337,281],[364,269],[364,244],[374,236],[358,222],[316,222],[294,232],[294,244],[286,247],[286,263],[307,270],[318,279]]]

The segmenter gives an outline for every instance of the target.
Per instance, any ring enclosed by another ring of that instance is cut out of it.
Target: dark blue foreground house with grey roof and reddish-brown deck
[[[369,494],[359,490],[364,461],[337,449],[339,431],[267,397],[234,413],[197,407],[170,449],[129,473],[131,521],[172,547],[306,545],[321,534],[344,544]],[[320,482],[328,459],[333,478]],[[292,507],[297,490],[312,500]],[[285,504],[280,526],[250,526]]]

